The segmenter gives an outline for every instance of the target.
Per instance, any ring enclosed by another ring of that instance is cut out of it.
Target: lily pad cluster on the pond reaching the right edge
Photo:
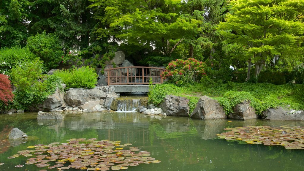
[[[248,144],[282,145],[286,149],[304,149],[304,127],[246,126],[224,128],[228,132],[216,134],[226,140],[245,141]]]

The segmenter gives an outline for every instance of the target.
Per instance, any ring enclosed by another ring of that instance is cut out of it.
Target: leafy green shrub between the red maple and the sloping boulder
[[[32,104],[42,103],[57,87],[61,87],[60,78],[54,75],[43,81],[42,72],[43,63],[38,58],[12,68],[11,79],[16,86],[14,107],[28,109]]]

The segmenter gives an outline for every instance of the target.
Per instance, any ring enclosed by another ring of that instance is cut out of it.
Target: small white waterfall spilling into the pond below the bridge
[[[134,111],[140,107],[140,99],[118,99],[117,111]]]

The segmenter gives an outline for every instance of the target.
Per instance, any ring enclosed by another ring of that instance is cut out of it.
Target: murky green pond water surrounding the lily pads
[[[291,171],[303,170],[304,150],[288,150],[282,146],[239,144],[217,138],[225,127],[270,125],[304,126],[298,121],[265,120],[194,120],[187,117],[147,116],[137,112],[66,113],[61,121],[37,121],[37,113],[0,115],[0,171],[38,171],[55,169],[26,165],[29,157],[7,157],[27,146],[67,142],[71,138],[97,138],[132,143],[130,147],[151,152],[161,163],[129,166],[132,171]],[[232,121],[232,122],[228,122]],[[19,144],[4,141],[12,127],[27,133],[29,140]],[[10,146],[9,145],[14,145]],[[129,146],[128,146],[129,147]],[[126,147],[125,147],[126,148]],[[33,149],[33,148],[31,148]],[[68,165],[67,162],[65,165]],[[51,166],[54,163],[50,162]],[[16,168],[16,165],[24,165]],[[69,171],[76,169],[67,169]]]

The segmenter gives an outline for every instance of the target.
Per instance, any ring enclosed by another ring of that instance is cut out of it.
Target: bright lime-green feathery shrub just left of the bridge
[[[95,69],[89,66],[71,69],[71,70],[60,70],[54,72],[55,76],[60,77],[66,89],[69,88],[88,88],[92,89],[95,87],[97,82],[97,74]]]

